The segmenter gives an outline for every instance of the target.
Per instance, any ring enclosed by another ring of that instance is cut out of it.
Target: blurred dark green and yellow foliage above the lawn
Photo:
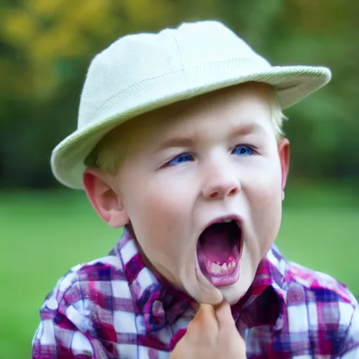
[[[0,0],[0,185],[48,187],[50,151],[76,127],[91,58],[118,36],[223,20],[276,65],[332,83],[287,111],[291,175],[359,175],[359,3],[313,0]]]

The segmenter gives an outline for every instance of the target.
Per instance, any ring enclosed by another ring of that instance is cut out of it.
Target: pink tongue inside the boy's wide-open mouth
[[[233,252],[229,231],[224,226],[214,225],[203,232],[201,243],[205,256],[211,261],[223,264]]]

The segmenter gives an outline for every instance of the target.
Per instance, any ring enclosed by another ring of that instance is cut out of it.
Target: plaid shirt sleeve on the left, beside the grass
[[[59,280],[41,306],[32,358],[108,358],[106,348],[96,338],[88,306],[89,302],[81,297],[76,273]]]

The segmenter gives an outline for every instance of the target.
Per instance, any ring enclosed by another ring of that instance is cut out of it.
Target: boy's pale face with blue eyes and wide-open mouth
[[[277,236],[289,144],[273,130],[272,96],[244,84],[123,126],[117,210],[152,269],[198,302],[238,302]]]

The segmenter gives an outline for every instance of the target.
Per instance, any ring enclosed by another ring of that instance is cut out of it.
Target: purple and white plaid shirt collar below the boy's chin
[[[156,332],[165,325],[172,325],[184,313],[194,315],[197,303],[186,293],[174,287],[165,278],[156,276],[144,263],[135,238],[127,229],[111,255],[120,257],[123,270],[135,299],[135,311],[142,314],[147,332]],[[240,317],[248,327],[275,325],[280,310],[273,311],[273,300],[278,309],[286,302],[285,270],[287,262],[275,245],[260,262],[250,290],[232,306],[235,320]],[[260,299],[260,300],[259,300]],[[259,310],[271,304],[270,311]],[[268,317],[267,313],[272,315]],[[266,317],[266,318],[264,318]]]

